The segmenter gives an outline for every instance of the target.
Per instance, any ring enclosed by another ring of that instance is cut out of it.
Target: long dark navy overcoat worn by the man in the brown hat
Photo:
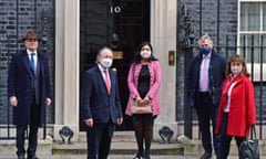
[[[45,98],[51,98],[48,59],[38,52],[40,66],[40,126],[45,121]],[[13,107],[13,124],[29,125],[31,114],[32,72],[27,50],[12,55],[8,73],[8,95],[18,98],[18,106]]]

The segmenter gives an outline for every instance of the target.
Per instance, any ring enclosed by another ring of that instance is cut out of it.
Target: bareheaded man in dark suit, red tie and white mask
[[[83,78],[81,113],[88,126],[88,159],[108,158],[115,124],[123,121],[116,74],[110,70],[112,60],[112,51],[103,47]]]

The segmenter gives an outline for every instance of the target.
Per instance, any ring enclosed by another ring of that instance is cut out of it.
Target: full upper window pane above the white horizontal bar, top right
[[[241,3],[241,31],[259,31],[259,3]]]

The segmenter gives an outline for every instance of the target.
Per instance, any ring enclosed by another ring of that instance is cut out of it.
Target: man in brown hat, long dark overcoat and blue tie
[[[38,159],[38,128],[45,123],[45,106],[51,105],[48,59],[38,51],[39,38],[29,31],[25,50],[12,55],[8,74],[8,95],[17,125],[17,155],[25,158],[24,136],[30,127],[28,159]]]

